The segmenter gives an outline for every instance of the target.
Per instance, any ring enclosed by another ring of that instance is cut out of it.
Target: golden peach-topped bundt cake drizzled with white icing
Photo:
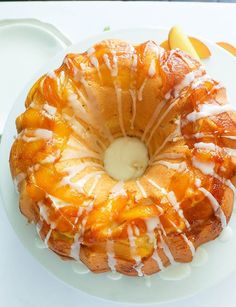
[[[227,225],[236,113],[187,53],[105,40],[66,55],[25,106],[10,154],[20,210],[63,259],[150,275]]]

